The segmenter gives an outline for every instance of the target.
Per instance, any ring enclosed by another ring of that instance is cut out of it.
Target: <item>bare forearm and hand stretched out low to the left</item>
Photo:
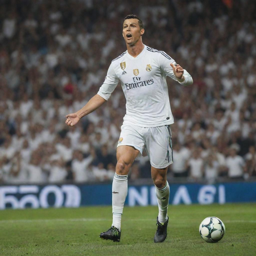
[[[104,102],[106,102],[106,100],[103,99],[100,95],[94,95],[88,101],[88,103],[85,106],[83,106],[80,110],[78,110],[76,113],[68,114],[65,116],[67,118],[66,124],[68,126],[73,126],[77,124],[83,116],[88,115],[94,110],[98,109]]]

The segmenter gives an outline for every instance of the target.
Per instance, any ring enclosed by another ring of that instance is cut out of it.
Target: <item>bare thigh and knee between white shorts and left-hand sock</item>
[[[132,146],[119,146],[116,150],[116,174],[127,175],[134,159],[139,153],[140,151]]]

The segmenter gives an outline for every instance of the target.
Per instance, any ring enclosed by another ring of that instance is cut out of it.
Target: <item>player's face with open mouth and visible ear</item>
[[[126,44],[134,45],[144,33],[144,29],[140,29],[137,19],[126,19],[123,23],[123,37]]]

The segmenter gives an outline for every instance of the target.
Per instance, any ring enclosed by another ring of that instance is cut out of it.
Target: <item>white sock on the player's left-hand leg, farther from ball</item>
[[[121,216],[124,208],[124,201],[127,196],[128,175],[118,175],[115,173],[112,183],[112,212],[113,222],[111,226],[121,231]]]

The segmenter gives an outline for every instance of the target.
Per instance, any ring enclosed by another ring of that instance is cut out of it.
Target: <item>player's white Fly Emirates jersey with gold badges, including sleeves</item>
[[[104,83],[98,94],[108,100],[119,80],[126,98],[126,114],[123,124],[141,127],[157,127],[174,123],[168,97],[166,76],[177,81],[170,63],[176,62],[164,51],[144,45],[137,57],[127,50],[112,60]],[[185,80],[193,80],[184,69]]]

